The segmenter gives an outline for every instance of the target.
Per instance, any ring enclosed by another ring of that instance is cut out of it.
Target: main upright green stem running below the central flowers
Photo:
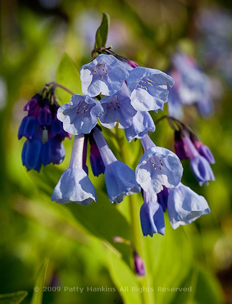
[[[120,155],[122,157],[122,161],[130,166],[128,154],[126,151],[126,147],[124,144],[124,138],[121,139],[119,136],[119,130],[117,129],[117,137],[120,146]],[[147,252],[147,247],[145,246],[145,239],[142,235],[141,231],[141,223],[140,223],[140,206],[138,204],[138,196],[141,194],[134,194],[128,197],[129,200],[129,209],[130,209],[130,218],[131,218],[131,229],[132,229],[132,242],[139,253],[139,255],[143,258],[145,262],[146,275],[139,279],[140,287],[146,288],[145,291],[142,292],[143,296],[143,304],[155,304],[154,292],[149,291],[153,286],[152,276],[150,275],[149,269],[147,265],[149,264],[149,252]],[[147,291],[146,291],[147,290]]]

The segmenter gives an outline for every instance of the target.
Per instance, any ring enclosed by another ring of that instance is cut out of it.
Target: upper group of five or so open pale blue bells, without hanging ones
[[[135,66],[135,67],[132,67]],[[99,119],[102,126],[125,129],[129,141],[154,131],[148,111],[162,110],[173,79],[156,69],[123,62],[100,54],[81,67],[84,95],[73,95],[62,105],[57,117],[65,131],[88,134]]]

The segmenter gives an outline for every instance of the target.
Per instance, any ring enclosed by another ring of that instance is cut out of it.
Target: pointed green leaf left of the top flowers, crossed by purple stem
[[[67,54],[64,53],[59,65],[56,70],[56,82],[74,94],[82,94],[81,91],[81,80],[80,80],[80,71],[77,69],[73,59]],[[62,103],[68,102],[72,96],[71,93],[57,88],[58,98]]]

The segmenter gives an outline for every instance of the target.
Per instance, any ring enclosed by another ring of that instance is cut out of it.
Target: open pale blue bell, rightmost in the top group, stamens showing
[[[138,111],[149,111],[162,109],[168,100],[168,85],[172,87],[174,80],[160,70],[138,66],[129,71],[126,83],[131,105]]]

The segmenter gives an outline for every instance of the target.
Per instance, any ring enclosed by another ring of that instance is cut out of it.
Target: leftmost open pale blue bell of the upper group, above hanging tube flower
[[[57,111],[57,118],[63,122],[63,129],[71,134],[90,133],[103,116],[103,107],[98,100],[87,95],[75,94],[69,103]]]

